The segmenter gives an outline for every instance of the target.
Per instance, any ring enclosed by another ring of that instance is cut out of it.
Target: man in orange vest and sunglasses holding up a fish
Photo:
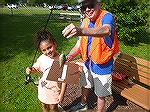
[[[82,101],[78,107],[86,106],[88,88],[93,87],[97,95],[97,112],[102,112],[105,97],[112,94],[113,56],[119,51],[115,20],[110,12],[100,8],[98,0],[78,0],[78,3],[85,16],[81,26],[70,24],[62,31],[67,38],[79,36],[67,59],[81,54],[84,62],[84,75],[81,75]]]

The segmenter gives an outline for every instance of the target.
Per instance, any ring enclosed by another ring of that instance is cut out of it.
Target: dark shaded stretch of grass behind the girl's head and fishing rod
[[[34,55],[36,50],[34,36],[39,30],[43,29],[48,16],[1,15],[0,61],[12,59],[20,53],[25,53],[28,56]],[[57,41],[58,52],[61,52],[62,48],[65,50],[66,47],[71,47],[67,39],[61,34],[69,21],[55,18],[57,16],[55,15],[49,20],[47,28]]]

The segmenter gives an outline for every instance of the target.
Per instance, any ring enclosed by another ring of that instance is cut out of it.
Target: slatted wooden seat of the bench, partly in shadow
[[[150,90],[147,90],[137,84],[130,87],[123,85],[121,82],[113,81],[113,90],[117,91],[126,99],[138,104],[139,106],[150,109]]]

